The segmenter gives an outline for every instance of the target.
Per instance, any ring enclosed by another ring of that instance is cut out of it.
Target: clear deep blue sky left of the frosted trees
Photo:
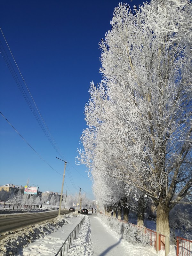
[[[108,31],[119,1],[9,1],[0,8],[0,27],[46,126],[67,161],[64,193],[79,188],[94,199],[86,167],[75,164],[86,128],[89,85],[101,80],[98,43]],[[131,6],[142,1],[126,1]],[[12,67],[22,77],[0,32]],[[31,100],[30,100],[31,101]],[[35,106],[34,106],[35,108]],[[0,115],[0,185],[13,183],[60,192],[64,162],[40,128],[0,55],[0,111],[47,165]],[[43,121],[42,121],[43,122]],[[77,187],[78,186],[78,187]]]

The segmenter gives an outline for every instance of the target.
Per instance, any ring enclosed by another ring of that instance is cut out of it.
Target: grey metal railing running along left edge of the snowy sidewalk
[[[57,254],[55,254],[55,256],[59,255],[65,255],[65,249],[66,249],[66,243],[67,243],[67,249],[66,249],[66,253],[68,253],[68,249],[70,249],[74,239],[77,238],[77,235],[79,234],[79,231],[84,223],[85,220],[85,216],[84,218],[80,221],[79,224],[77,224],[77,226],[73,229],[73,231],[68,235],[67,239],[65,240],[65,242],[61,245],[59,251],[57,252]]]

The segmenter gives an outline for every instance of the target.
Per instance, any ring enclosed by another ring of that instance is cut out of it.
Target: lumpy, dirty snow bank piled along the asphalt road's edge
[[[43,235],[55,232],[55,230],[66,223],[71,223],[71,221],[66,219],[66,216],[60,215],[52,219],[52,221],[49,220],[49,222],[44,221],[41,224],[17,229],[14,234],[0,241],[0,256],[15,255],[24,245],[33,242]],[[9,232],[3,233],[3,235],[8,233]]]

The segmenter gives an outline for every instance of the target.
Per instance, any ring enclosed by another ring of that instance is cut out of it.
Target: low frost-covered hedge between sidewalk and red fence
[[[112,228],[116,233],[121,235],[127,242],[134,245],[146,246],[150,244],[148,234],[144,234],[143,229],[139,229],[130,223],[119,222],[115,218],[108,217],[104,214],[97,214],[97,217],[107,226]]]

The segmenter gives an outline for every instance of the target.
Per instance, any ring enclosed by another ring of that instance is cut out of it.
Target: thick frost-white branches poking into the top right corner
[[[186,45],[190,45],[192,38],[191,1],[152,0],[147,8],[143,9],[141,7],[141,9],[147,14],[147,22],[144,26],[152,28],[157,35],[168,34],[170,42],[166,42],[166,44],[173,42],[178,43],[182,40]],[[188,50],[190,50],[190,48]]]

